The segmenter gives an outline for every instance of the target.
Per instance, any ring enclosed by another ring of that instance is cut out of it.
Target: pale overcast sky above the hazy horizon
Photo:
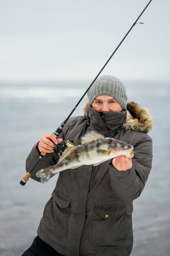
[[[92,80],[149,0],[0,0],[0,81]],[[152,0],[102,74],[170,81],[170,0]]]

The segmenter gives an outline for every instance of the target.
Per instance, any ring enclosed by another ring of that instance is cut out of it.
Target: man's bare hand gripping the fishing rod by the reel
[[[44,136],[40,139],[38,149],[40,152],[53,153],[53,148],[55,145],[61,142],[62,139],[56,139],[53,134],[44,134]]]

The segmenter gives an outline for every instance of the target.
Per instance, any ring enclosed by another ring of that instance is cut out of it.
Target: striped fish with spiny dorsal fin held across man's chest
[[[40,178],[40,182],[45,183],[60,171],[82,165],[97,166],[120,155],[132,157],[133,153],[132,145],[91,131],[81,138],[80,145],[67,148],[57,164],[41,169],[36,176]]]

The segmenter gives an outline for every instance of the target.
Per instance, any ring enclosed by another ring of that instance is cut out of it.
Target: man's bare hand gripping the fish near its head
[[[132,159],[126,157],[125,155],[120,155],[113,158],[112,164],[118,171],[126,171],[132,168]]]

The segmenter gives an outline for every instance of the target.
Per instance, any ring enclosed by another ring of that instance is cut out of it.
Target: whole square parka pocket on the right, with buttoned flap
[[[95,205],[89,240],[97,247],[126,246],[126,204]]]

